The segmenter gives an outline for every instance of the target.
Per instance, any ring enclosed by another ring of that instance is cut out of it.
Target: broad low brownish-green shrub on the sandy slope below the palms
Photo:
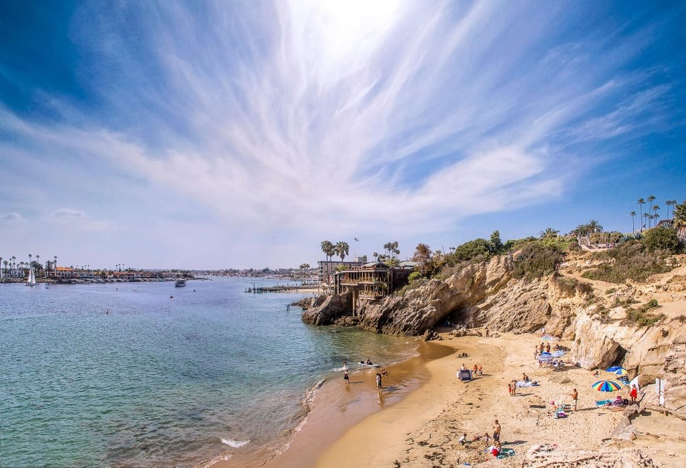
[[[614,260],[598,269],[585,271],[583,278],[611,283],[624,283],[627,279],[645,281],[650,275],[666,273],[670,267],[657,251],[648,251],[640,241],[627,241],[614,249],[593,254],[595,260]]]

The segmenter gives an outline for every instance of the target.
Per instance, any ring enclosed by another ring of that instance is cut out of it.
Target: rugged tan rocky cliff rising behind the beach
[[[530,333],[545,328],[571,342],[566,358],[584,369],[621,364],[631,377],[640,375],[641,384],[665,378],[667,402],[670,397],[672,401],[669,408],[686,416],[686,332],[682,331],[686,267],[657,275],[646,284],[622,285],[583,280],[580,272],[589,267],[593,267],[590,260],[578,257],[547,278],[517,280],[512,278],[512,256],[497,256],[404,295],[360,300],[354,319],[346,323],[399,336],[421,335],[446,319],[491,332]],[[585,287],[569,287],[577,283]],[[642,304],[653,298],[659,299],[657,310],[665,317],[652,326],[627,320],[628,301]],[[353,316],[349,293],[316,299],[303,320],[325,325],[341,316]]]

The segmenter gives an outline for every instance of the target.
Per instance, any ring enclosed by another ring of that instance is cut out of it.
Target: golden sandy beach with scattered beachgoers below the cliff
[[[426,467],[480,463],[488,466],[521,466],[534,444],[551,444],[565,450],[597,450],[623,417],[622,410],[596,408],[598,399],[617,393],[600,393],[591,384],[611,375],[567,366],[562,370],[541,368],[534,360],[539,336],[502,334],[497,338],[442,334],[441,341],[421,343],[419,356],[388,367],[384,389],[374,388],[375,372],[360,371],[351,385],[331,381],[322,386],[303,428],[296,432],[285,452],[266,467]],[[415,340],[416,338],[411,338]],[[565,343],[562,343],[565,345]],[[568,343],[567,343],[568,344]],[[469,357],[458,358],[466,352]],[[464,364],[484,368],[484,375],[460,382],[456,371]],[[508,382],[526,373],[539,386],[508,394]],[[576,412],[567,406],[568,417],[553,417],[551,402],[571,404],[577,389]],[[622,395],[628,397],[627,395]],[[650,447],[651,456],[670,463],[686,461],[678,452],[684,447],[679,436],[661,436],[652,422],[659,415],[641,417],[642,426],[653,428],[652,436],[612,442],[613,447]],[[475,441],[460,445],[464,433],[472,441],[493,434],[495,420],[501,424],[501,443],[514,456],[499,460],[487,454],[489,444]],[[637,426],[639,427],[639,426]],[[674,432],[672,424],[672,432]],[[649,441],[650,443],[643,443]],[[354,447],[364,447],[355,449]],[[262,454],[264,455],[264,454]],[[257,466],[257,459],[235,458],[215,467]],[[250,465],[250,462],[253,465]]]

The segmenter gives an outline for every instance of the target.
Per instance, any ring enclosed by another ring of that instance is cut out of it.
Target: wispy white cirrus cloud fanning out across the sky
[[[54,99],[62,121],[0,108],[0,149],[103,164],[237,229],[445,231],[565,194],[600,159],[576,145],[683,119],[663,112],[678,80],[635,63],[654,29],[603,34],[568,7],[94,3],[73,40],[99,107]]]

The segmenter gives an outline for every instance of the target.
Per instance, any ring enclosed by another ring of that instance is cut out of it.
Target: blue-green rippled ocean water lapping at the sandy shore
[[[0,284],[0,466],[194,466],[273,447],[344,360],[413,354],[406,338],[305,325],[286,311],[303,295],[250,282]]]

